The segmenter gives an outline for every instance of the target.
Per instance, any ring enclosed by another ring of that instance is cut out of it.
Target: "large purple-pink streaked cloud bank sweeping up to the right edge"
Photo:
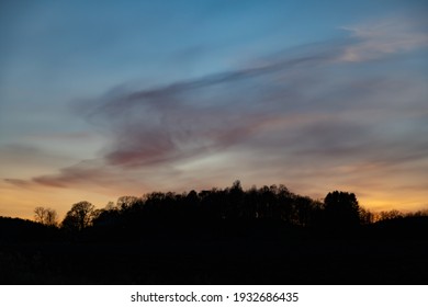
[[[33,183],[122,181],[149,189],[227,173],[248,174],[249,183],[289,174],[302,186],[362,186],[364,178],[373,185],[367,178],[409,160],[427,170],[426,96],[421,82],[408,80],[421,76],[412,69],[391,76],[401,59],[388,57],[426,48],[427,35],[403,20],[346,30],[351,37],[302,48],[300,56],[283,52],[262,65],[86,101],[79,116],[99,127],[109,145],[97,159]],[[381,58],[385,66],[373,70],[372,60]],[[403,180],[414,174],[401,170]]]

